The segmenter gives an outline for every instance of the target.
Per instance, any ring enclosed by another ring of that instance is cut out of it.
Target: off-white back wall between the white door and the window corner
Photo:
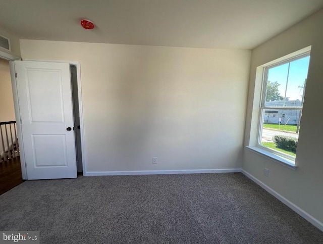
[[[20,43],[23,59],[81,62],[87,171],[241,167],[250,51]]]

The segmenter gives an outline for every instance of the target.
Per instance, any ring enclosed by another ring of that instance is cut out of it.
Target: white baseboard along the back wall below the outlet
[[[201,173],[238,173],[238,172],[241,172],[241,169],[88,171],[84,175],[85,176],[104,176],[104,175],[201,174]]]

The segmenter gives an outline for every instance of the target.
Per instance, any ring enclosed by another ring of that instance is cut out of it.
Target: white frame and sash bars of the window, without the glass
[[[266,88],[267,88],[267,81],[268,81],[268,70],[304,57],[310,56],[310,51],[301,53],[299,55],[295,55],[293,57],[290,57],[288,59],[281,60],[279,62],[271,62],[270,65],[268,66],[263,66],[263,75],[262,75],[262,84],[261,84],[261,96],[260,96],[260,106],[259,106],[259,118],[258,118],[258,130],[257,130],[257,139],[256,139],[256,147],[260,148],[261,150],[265,150],[267,152],[273,153],[274,155],[278,155],[282,158],[285,158],[289,161],[294,162],[295,164],[295,159],[296,157],[293,157],[288,154],[284,154],[282,152],[264,147],[261,145],[261,135],[262,135],[262,128],[263,128],[263,116],[265,110],[298,110],[301,111],[303,110],[303,105],[300,107],[266,107],[265,106],[265,98],[266,98]],[[282,116],[283,117],[283,116]],[[286,114],[285,114],[286,117]]]

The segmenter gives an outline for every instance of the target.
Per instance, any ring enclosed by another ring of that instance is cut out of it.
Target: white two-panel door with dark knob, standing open
[[[14,63],[27,178],[76,178],[70,65]]]

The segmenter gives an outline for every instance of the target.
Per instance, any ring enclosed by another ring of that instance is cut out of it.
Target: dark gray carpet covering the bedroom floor
[[[323,243],[323,232],[241,173],[26,181],[0,230],[40,243]]]

